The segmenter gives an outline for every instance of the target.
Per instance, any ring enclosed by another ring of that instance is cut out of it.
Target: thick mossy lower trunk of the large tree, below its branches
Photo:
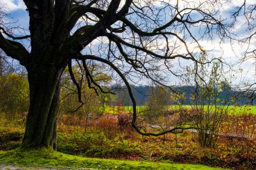
[[[28,69],[30,108],[23,148],[53,148],[53,130],[59,101],[59,77],[63,69],[40,65]]]

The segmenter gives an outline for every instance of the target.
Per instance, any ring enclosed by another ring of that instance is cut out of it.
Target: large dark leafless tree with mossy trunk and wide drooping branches
[[[227,1],[151,1],[151,0],[24,0],[29,35],[15,36],[1,25],[0,48],[28,71],[30,108],[22,146],[53,145],[53,129],[59,101],[59,79],[65,67],[77,86],[72,60],[80,60],[86,79],[96,91],[104,91],[88,69],[88,61],[102,63],[121,77],[136,105],[130,82],[141,76],[155,83],[169,75],[183,75],[183,62],[199,63],[204,53],[200,40],[231,38],[218,8]],[[24,46],[20,40],[28,40]],[[175,62],[174,59],[177,59]],[[176,66],[181,65],[181,69]],[[197,67],[196,67],[197,68]],[[159,73],[164,73],[162,77]],[[154,79],[158,75],[157,80]]]

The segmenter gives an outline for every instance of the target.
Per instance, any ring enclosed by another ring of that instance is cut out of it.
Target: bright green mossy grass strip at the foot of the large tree
[[[18,165],[46,165],[51,167],[94,168],[94,169],[206,169],[221,168],[207,167],[205,165],[190,165],[176,163],[158,163],[148,161],[123,161],[115,159],[95,159],[77,157],[63,153],[49,151],[45,148],[38,150],[0,151],[0,163],[16,163]]]

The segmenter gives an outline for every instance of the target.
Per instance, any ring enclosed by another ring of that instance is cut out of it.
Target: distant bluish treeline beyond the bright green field
[[[171,90],[168,87],[151,87],[149,85],[139,85],[133,86],[132,88],[133,96],[135,97],[137,105],[145,105],[148,97],[150,97],[150,88],[164,88],[166,90],[166,94],[163,96],[163,99],[170,98],[170,94],[174,93],[173,91],[176,91],[177,93],[185,93],[185,97],[179,100],[184,105],[192,105],[193,103],[195,103],[192,97],[196,93],[195,86],[180,86],[172,88]],[[120,105],[121,102],[123,105],[132,105],[126,87],[117,88],[115,93],[115,99],[109,101],[109,104]],[[218,98],[220,98],[220,102],[227,101],[226,103],[231,105],[245,105],[250,103],[250,100],[247,98],[247,95],[248,94],[242,93],[241,91],[234,91],[231,88],[226,88],[222,91],[218,91]],[[170,102],[168,104],[171,105],[177,103],[170,99]]]

